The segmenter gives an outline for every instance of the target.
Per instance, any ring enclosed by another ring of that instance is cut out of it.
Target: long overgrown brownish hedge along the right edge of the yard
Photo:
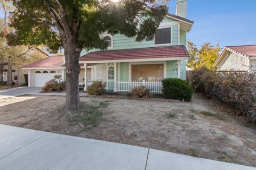
[[[249,122],[256,123],[255,73],[197,69],[191,74],[197,91],[217,98],[230,108],[237,109]]]

